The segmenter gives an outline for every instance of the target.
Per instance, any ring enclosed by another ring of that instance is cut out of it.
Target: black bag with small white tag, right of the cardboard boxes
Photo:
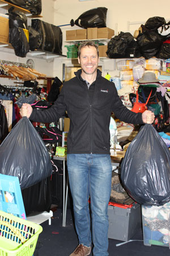
[[[133,35],[121,31],[108,42],[107,55],[111,59],[141,57],[141,52]]]

